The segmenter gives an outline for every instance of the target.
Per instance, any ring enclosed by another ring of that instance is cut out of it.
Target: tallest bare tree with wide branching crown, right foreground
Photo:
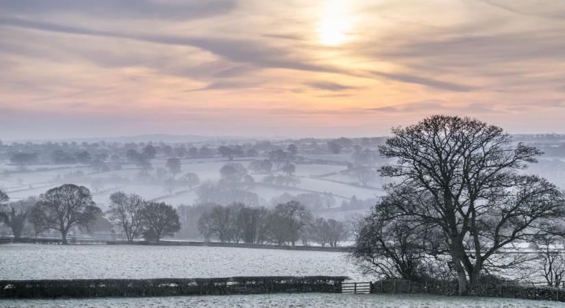
[[[380,170],[398,179],[387,190],[402,202],[389,203],[390,213],[442,230],[462,295],[501,248],[549,231],[562,215],[555,185],[520,172],[542,152],[514,144],[500,127],[430,116],[392,133],[379,148],[397,159]]]

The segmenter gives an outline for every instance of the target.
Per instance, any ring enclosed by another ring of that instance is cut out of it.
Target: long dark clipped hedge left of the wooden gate
[[[340,293],[342,276],[194,279],[2,280],[0,298],[92,298],[318,292]]]

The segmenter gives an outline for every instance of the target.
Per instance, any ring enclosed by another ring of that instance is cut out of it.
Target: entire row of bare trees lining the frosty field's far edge
[[[74,184],[51,188],[38,198],[8,201],[8,196],[0,191],[0,222],[12,229],[14,238],[21,237],[29,222],[36,235],[57,231],[64,244],[70,231],[90,232],[101,221],[108,222],[107,230],[123,234],[130,242],[138,238],[158,242],[174,236],[181,228],[191,227],[196,227],[207,241],[251,244],[294,246],[297,242],[315,242],[335,247],[349,235],[344,222],[314,219],[310,210],[297,201],[279,203],[271,209],[244,203],[181,206],[182,220],[171,205],[125,192],[112,193],[108,210],[103,212],[92,201],[88,188]]]

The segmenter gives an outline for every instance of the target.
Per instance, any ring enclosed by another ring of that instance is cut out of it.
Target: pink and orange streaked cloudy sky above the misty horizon
[[[565,133],[565,1],[0,0],[0,139]]]

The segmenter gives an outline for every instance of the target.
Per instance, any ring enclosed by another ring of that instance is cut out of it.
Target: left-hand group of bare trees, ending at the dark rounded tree
[[[64,184],[47,190],[39,198],[12,203],[8,200],[0,191],[0,222],[12,229],[16,240],[21,237],[26,222],[32,224],[36,235],[42,231],[58,231],[62,243],[66,244],[71,230],[88,232],[99,220],[106,220],[92,201],[90,190],[84,186]],[[142,235],[147,240],[159,241],[180,229],[179,216],[171,205],[145,201],[123,192],[110,196],[110,210],[106,214],[128,240]]]

